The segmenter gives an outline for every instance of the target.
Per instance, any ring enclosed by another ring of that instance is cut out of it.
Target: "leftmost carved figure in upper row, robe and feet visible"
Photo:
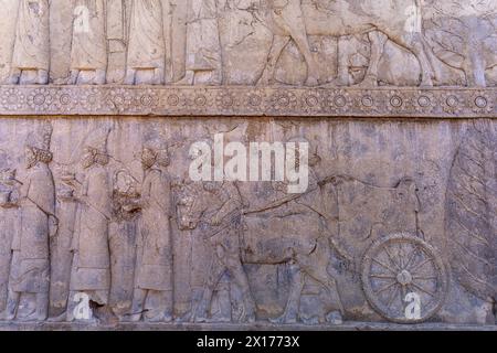
[[[20,0],[11,62],[11,84],[49,83],[49,0]]]

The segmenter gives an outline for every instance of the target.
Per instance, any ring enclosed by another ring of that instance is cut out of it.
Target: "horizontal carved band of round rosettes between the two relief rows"
[[[0,115],[497,118],[496,88],[0,86]]]

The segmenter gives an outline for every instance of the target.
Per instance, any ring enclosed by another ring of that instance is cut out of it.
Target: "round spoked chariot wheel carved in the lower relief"
[[[366,252],[362,288],[371,307],[396,323],[420,323],[444,304],[447,269],[438,252],[409,234],[383,237]]]

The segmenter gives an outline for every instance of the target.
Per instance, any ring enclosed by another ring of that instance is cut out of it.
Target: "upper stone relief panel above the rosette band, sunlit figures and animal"
[[[2,1],[4,84],[495,86],[491,0]]]

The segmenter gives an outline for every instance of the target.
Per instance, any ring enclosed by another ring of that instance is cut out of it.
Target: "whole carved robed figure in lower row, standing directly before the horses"
[[[135,205],[141,208],[141,222],[130,319],[169,322],[173,313],[171,185],[165,143],[159,139],[146,141],[141,163],[145,180],[141,199]]]

